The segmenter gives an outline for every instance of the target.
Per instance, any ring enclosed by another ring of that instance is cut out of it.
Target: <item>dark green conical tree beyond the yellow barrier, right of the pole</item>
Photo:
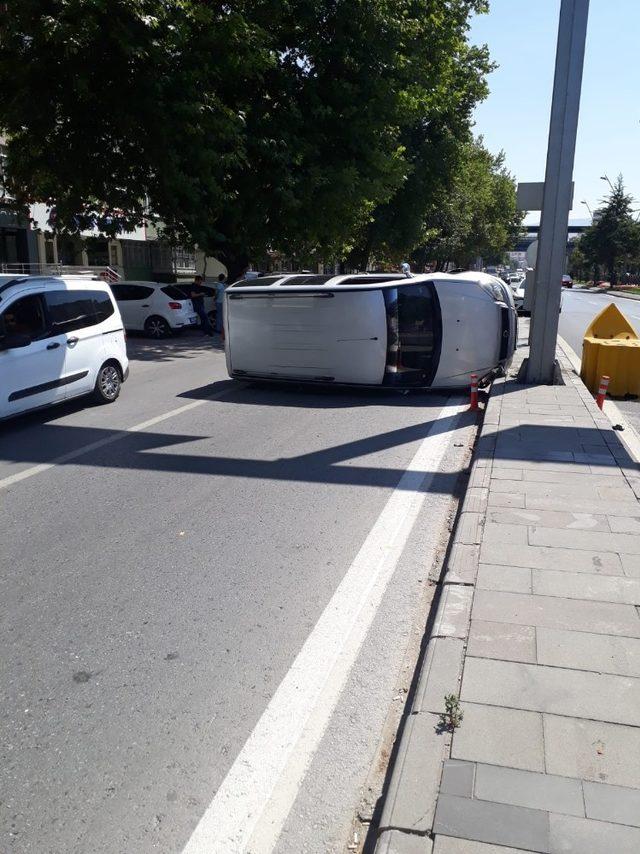
[[[622,175],[619,175],[610,194],[597,211],[598,218],[591,228],[580,238],[578,247],[580,258],[587,264],[602,264],[607,271],[609,281],[615,285],[619,268],[626,266],[640,253],[640,225],[632,214],[633,197],[624,189]]]

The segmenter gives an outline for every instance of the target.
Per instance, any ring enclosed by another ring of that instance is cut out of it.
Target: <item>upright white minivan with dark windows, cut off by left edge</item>
[[[0,285],[0,419],[85,394],[112,403],[128,373],[105,282],[24,276]]]

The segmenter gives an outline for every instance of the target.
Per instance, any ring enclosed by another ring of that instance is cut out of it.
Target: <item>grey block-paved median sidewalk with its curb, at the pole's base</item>
[[[559,361],[494,385],[379,854],[640,852],[640,470]]]

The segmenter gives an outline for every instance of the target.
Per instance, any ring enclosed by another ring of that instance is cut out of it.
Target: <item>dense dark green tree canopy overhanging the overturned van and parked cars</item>
[[[343,256],[374,219],[374,242],[415,246],[486,94],[486,50],[466,40],[485,0],[9,6],[0,125],[18,199],[55,201],[69,231],[154,217],[238,264]],[[404,222],[381,238],[391,200]]]

